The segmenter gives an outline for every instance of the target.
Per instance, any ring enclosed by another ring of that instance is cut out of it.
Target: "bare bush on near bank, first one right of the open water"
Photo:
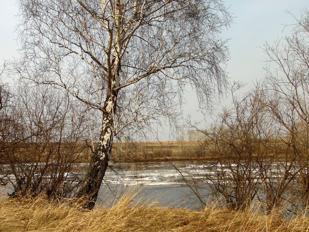
[[[234,87],[238,88],[233,86],[232,93]],[[233,107],[224,109],[205,131],[204,146],[216,158],[204,165],[203,181],[232,209],[245,209],[252,203],[273,162],[269,153],[274,131],[263,97],[259,90],[240,99],[233,95]]]

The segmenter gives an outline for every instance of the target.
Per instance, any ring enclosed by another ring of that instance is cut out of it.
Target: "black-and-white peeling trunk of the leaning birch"
[[[121,4],[117,4],[117,15],[121,15]],[[87,169],[84,181],[78,191],[77,197],[86,196],[86,208],[92,209],[95,206],[95,202],[98,197],[99,189],[104,178],[106,169],[108,167],[108,161],[112,152],[113,134],[114,134],[114,122],[117,105],[118,87],[120,85],[120,61],[122,49],[121,28],[123,20],[121,17],[115,19],[115,36],[110,32],[109,47],[114,44],[113,49],[109,49],[107,53],[108,63],[108,92],[103,108],[103,120],[100,138],[98,145],[95,148],[90,164]],[[114,40],[114,41],[113,41]],[[111,58],[112,57],[112,58]]]

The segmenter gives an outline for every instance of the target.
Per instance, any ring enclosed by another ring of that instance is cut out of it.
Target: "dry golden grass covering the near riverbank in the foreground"
[[[207,208],[204,211],[132,205],[124,196],[112,208],[92,211],[37,200],[0,200],[0,231],[308,231],[309,218],[283,220],[275,215]]]

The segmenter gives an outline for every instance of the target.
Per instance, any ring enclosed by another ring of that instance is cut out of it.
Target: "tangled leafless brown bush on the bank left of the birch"
[[[25,83],[19,83],[12,101],[17,129],[2,124],[1,132],[19,131],[5,143],[19,142],[2,153],[2,184],[13,196],[71,196],[82,178],[77,163],[86,146],[83,108],[61,90]]]

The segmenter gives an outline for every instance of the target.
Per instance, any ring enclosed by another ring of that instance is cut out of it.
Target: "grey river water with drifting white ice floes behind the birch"
[[[211,187],[201,179],[219,178],[209,168],[208,162],[178,161],[178,162],[141,162],[141,163],[109,163],[101,184],[97,203],[112,205],[115,204],[123,194],[128,191],[135,195],[134,201],[138,203],[152,203],[167,207],[185,207],[201,209],[209,199]],[[76,166],[79,171],[75,174],[83,177],[88,163],[81,163]],[[230,165],[234,167],[234,164]],[[224,170],[225,175],[231,175],[226,165],[217,164],[219,170]],[[284,169],[280,162],[273,162],[269,166],[269,173],[273,178],[280,178]],[[67,173],[70,175],[70,173]],[[258,180],[260,174],[258,169],[252,172]],[[11,177],[12,178],[12,177]],[[189,184],[189,185],[188,185]],[[196,186],[198,185],[198,188]],[[10,193],[10,189],[0,192]],[[200,199],[203,204],[201,204]],[[261,193],[262,197],[263,193]]]

